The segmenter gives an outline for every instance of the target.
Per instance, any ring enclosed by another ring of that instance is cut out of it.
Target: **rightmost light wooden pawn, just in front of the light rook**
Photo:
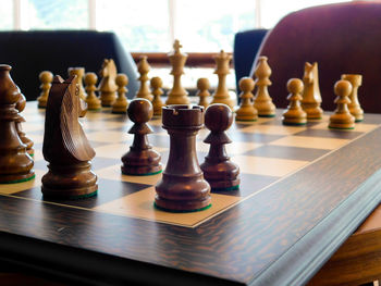
[[[353,129],[355,128],[355,116],[348,110],[351,100],[348,96],[352,91],[352,85],[348,80],[341,79],[334,85],[334,94],[336,98],[334,103],[337,104],[334,113],[330,116],[330,128],[335,129]]]

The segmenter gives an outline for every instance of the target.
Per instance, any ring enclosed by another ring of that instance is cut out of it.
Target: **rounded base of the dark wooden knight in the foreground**
[[[90,163],[72,165],[48,165],[42,176],[41,191],[45,197],[57,199],[79,199],[95,196],[98,190],[97,175],[90,170]]]

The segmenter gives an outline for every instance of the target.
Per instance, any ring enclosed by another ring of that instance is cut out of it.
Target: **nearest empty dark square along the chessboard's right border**
[[[325,149],[265,145],[254,150],[250,150],[244,154],[302,161],[314,161],[315,159],[318,159],[319,157],[328,153],[329,151],[330,150]]]

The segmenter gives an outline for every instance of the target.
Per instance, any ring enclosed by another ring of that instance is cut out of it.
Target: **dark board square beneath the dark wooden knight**
[[[98,179],[97,195],[86,199],[58,200],[52,198],[44,198],[40,187],[15,192],[13,196],[91,209],[148,187],[150,187],[150,185],[100,178]]]

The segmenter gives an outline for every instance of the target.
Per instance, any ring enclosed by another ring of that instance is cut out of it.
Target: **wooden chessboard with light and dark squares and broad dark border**
[[[213,192],[205,211],[163,212],[153,207],[160,174],[121,174],[132,123],[103,109],[81,119],[97,152],[98,195],[45,200],[44,115],[36,102],[27,103],[23,128],[35,141],[36,178],[0,185],[0,249],[7,250],[5,260],[17,262],[17,253],[23,263],[45,271],[90,282],[155,284],[165,273],[165,285],[306,282],[381,199],[376,191],[381,116],[367,115],[354,130],[334,130],[328,128],[328,115],[307,126],[283,126],[279,113],[256,123],[235,122],[229,130],[233,142],[226,149],[241,167],[239,190]],[[160,119],[150,125],[150,144],[165,165],[169,136]],[[197,136],[199,162],[209,148],[202,142],[207,134],[202,129]],[[25,250],[24,240],[34,247]],[[36,262],[37,250],[44,254]]]

